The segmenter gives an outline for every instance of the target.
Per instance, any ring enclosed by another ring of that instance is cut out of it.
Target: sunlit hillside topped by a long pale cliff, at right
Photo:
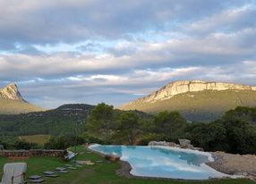
[[[170,83],[120,109],[152,114],[177,110],[189,121],[213,121],[236,106],[256,106],[255,87],[185,80]]]

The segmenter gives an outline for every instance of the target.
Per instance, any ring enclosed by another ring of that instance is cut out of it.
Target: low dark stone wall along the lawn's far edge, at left
[[[30,149],[30,150],[4,150],[0,151],[0,157],[41,157],[41,156],[54,156],[64,157],[66,150],[43,150],[43,149]]]

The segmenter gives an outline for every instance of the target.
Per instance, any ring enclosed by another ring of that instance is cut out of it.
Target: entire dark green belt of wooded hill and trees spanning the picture
[[[21,120],[16,121],[17,117]],[[84,142],[148,145],[151,140],[177,143],[178,138],[188,138],[194,146],[206,151],[256,154],[255,107],[237,107],[216,121],[190,122],[178,112],[165,111],[152,116],[138,111],[115,110],[103,103],[95,108],[65,105],[45,113],[0,116],[0,129],[0,144],[7,149],[63,149]],[[13,137],[16,130],[20,134],[38,133],[51,137],[47,142],[39,137],[37,140],[37,136]]]

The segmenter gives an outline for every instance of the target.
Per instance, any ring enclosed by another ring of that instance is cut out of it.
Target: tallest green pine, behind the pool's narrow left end
[[[109,142],[114,124],[114,107],[101,103],[90,113],[86,128],[90,136]]]

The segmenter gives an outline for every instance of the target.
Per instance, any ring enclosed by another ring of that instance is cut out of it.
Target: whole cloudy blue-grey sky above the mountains
[[[0,2],[0,87],[122,105],[181,79],[256,85],[256,0]]]

